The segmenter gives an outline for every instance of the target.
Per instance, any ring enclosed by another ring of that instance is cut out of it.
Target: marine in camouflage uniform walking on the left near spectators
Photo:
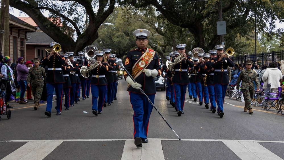
[[[38,58],[34,58],[34,63],[39,63]],[[45,70],[43,67],[36,67],[36,64],[34,67],[29,69],[28,72],[28,84],[32,84],[32,94],[34,96],[34,109],[37,110],[40,108],[40,97],[42,96],[42,90],[43,90],[43,79],[46,78]]]

